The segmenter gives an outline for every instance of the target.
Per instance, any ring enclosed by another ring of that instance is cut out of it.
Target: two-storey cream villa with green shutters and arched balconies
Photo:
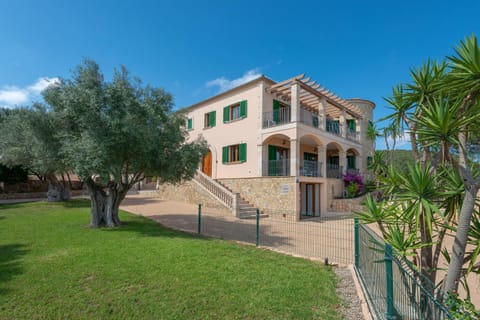
[[[203,136],[209,145],[196,180],[207,191],[217,183],[230,190],[238,199],[224,202],[237,213],[241,201],[296,219],[320,216],[342,196],[344,174],[366,172],[374,107],[342,99],[304,74],[256,78],[184,110],[189,139]]]

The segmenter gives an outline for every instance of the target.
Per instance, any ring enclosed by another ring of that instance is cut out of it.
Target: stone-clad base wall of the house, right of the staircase
[[[295,177],[218,179],[223,185],[261,211],[295,214],[297,184]]]

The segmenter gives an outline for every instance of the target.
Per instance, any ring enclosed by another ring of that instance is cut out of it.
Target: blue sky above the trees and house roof
[[[480,35],[480,1],[0,1],[0,106],[38,100],[88,57],[185,107],[259,74],[300,73],[376,103]]]

